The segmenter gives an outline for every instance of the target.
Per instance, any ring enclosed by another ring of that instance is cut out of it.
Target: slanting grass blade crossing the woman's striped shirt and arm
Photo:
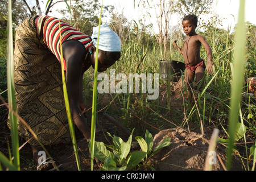
[[[59,20],[59,28],[60,28],[60,20]],[[68,92],[67,92],[67,85],[65,81],[65,73],[64,73],[64,67],[63,67],[63,51],[62,51],[62,42],[61,42],[61,32],[60,32],[60,53],[61,53],[61,74],[62,74],[62,83],[63,83],[63,92],[64,92],[64,100],[65,100],[65,107],[67,110],[67,117],[68,117],[68,126],[69,126],[69,131],[71,134],[71,140],[75,152],[75,157],[76,157],[76,163],[77,163],[77,168],[79,171],[81,171],[81,165],[79,162],[79,154],[77,150],[77,144],[76,144],[76,136],[75,136],[75,129],[73,126],[72,122],[72,117],[71,117],[71,110],[69,107],[69,101],[68,101]]]

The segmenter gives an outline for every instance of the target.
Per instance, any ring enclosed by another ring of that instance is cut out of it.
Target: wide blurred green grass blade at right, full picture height
[[[236,31],[236,45],[234,49],[233,68],[234,73],[232,77],[232,92],[229,110],[229,144],[227,153],[227,169],[230,170],[232,164],[232,153],[234,144],[234,135],[236,133],[236,126],[238,121],[238,112],[241,102],[242,85],[244,80],[243,68],[245,65],[245,40],[246,40],[246,28],[245,28],[245,0],[240,1],[240,10]]]

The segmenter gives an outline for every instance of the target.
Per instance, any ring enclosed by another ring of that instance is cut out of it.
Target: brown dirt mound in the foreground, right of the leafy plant
[[[157,171],[200,171],[204,169],[208,143],[201,138],[200,134],[188,134],[179,128],[163,130],[155,135],[154,147],[166,137],[171,137],[172,143],[154,156],[154,168]],[[218,157],[214,160],[212,170],[222,171],[224,168],[221,162],[224,165],[226,163],[225,148],[217,145],[216,151]],[[241,162],[234,160],[232,170],[243,170]]]

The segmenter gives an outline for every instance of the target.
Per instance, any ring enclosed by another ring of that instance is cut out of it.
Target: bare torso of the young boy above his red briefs
[[[181,50],[185,64],[195,66],[202,61],[200,57],[201,42],[199,41],[199,36],[193,35],[185,38],[183,49]]]

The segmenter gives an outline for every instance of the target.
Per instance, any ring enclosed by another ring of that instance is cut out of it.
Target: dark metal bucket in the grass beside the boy
[[[185,70],[185,64],[179,61],[159,60],[159,72],[161,79],[170,78],[170,81],[177,82]]]

